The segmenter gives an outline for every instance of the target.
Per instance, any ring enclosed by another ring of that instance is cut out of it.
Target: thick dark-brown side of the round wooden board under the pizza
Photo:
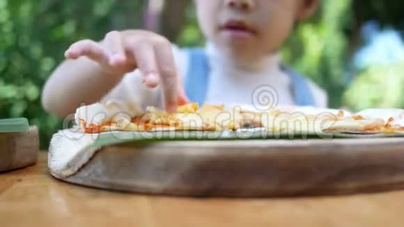
[[[173,196],[305,196],[404,188],[404,139],[172,141],[102,148],[65,181]]]

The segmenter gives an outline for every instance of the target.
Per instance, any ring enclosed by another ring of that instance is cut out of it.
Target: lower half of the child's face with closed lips
[[[195,0],[205,36],[244,60],[271,54],[297,19],[312,13],[317,0]]]

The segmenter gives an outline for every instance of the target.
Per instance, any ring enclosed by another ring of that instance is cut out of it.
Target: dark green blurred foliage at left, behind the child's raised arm
[[[141,26],[143,1],[0,0],[0,118],[29,118],[42,148],[61,128],[40,104],[47,77],[72,42]]]

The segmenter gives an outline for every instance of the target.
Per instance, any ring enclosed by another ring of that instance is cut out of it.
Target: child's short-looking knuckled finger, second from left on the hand
[[[104,38],[104,46],[109,55],[109,64],[119,66],[125,63],[126,55],[123,47],[123,38],[120,32],[111,31]]]

